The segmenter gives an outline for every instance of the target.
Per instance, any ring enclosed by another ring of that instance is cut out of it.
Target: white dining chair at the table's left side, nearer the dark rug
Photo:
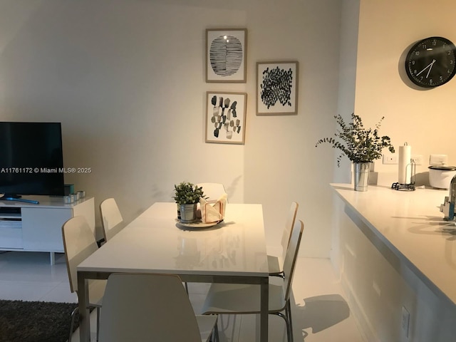
[[[93,232],[90,229],[87,220],[83,216],[75,216],[68,219],[62,226],[63,250],[65,251],[66,269],[68,271],[68,280],[70,281],[71,292],[78,294],[78,277],[77,267],[81,261],[85,260],[98,249]],[[88,309],[97,310],[97,336],[100,322],[100,307],[103,304],[103,294],[105,291],[105,280],[88,281]],[[83,289],[82,289],[83,291]],[[71,342],[73,333],[74,318],[76,311],[71,314],[70,337]]]

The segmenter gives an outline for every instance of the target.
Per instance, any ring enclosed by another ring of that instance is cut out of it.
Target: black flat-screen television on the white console
[[[0,199],[63,196],[63,175],[61,123],[0,122]]]

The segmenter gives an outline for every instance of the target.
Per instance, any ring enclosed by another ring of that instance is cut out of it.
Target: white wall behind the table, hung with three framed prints
[[[264,204],[269,247],[289,204],[302,252],[328,257],[340,1],[0,0],[0,119],[63,125],[68,175],[126,221],[172,201],[182,180],[223,182],[230,202]],[[204,81],[204,30],[247,28],[247,83]],[[255,63],[299,61],[299,113],[255,115]],[[247,92],[245,145],[204,142],[207,90]],[[227,215],[229,211],[227,211]],[[98,226],[100,219],[97,218]]]

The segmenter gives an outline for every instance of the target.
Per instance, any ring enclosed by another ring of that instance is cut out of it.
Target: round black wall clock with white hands
[[[456,47],[442,37],[425,38],[407,53],[405,71],[418,86],[442,86],[455,76]]]

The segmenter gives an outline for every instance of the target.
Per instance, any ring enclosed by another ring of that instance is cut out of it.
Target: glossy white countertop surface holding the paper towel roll
[[[456,225],[444,221],[440,212],[447,190],[369,185],[368,191],[358,192],[353,185],[331,186],[425,284],[456,304]]]

